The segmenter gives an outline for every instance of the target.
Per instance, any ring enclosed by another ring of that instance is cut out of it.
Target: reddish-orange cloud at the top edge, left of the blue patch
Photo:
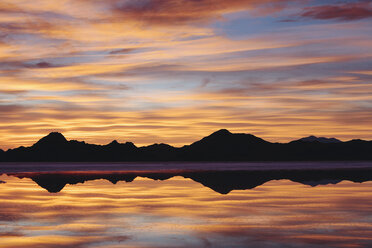
[[[270,12],[281,10],[290,1],[277,0],[140,0],[110,1],[111,10],[151,25],[179,25],[222,19],[224,14],[266,7]],[[261,11],[264,13],[263,11]]]

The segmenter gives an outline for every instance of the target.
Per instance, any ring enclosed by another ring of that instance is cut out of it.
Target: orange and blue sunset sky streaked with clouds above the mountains
[[[1,0],[0,148],[372,139],[372,1]]]

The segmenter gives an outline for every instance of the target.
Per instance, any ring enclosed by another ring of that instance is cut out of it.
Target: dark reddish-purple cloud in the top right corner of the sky
[[[358,3],[345,3],[337,5],[321,5],[307,7],[301,17],[318,20],[342,20],[354,21],[372,17],[372,5],[370,1]]]

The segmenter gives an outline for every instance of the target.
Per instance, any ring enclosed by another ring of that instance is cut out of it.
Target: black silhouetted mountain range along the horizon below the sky
[[[137,147],[114,140],[107,145],[67,140],[53,132],[30,147],[4,152],[0,162],[125,162],[125,161],[372,161],[372,141],[342,142],[306,137],[271,143],[251,134],[221,129],[180,148],[167,144]]]

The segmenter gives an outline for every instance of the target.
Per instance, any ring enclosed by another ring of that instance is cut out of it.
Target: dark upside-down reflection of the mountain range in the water
[[[256,170],[256,171],[165,171],[165,172],[79,172],[79,173],[18,173],[19,178],[31,178],[51,193],[60,192],[66,184],[105,179],[113,184],[132,182],[136,177],[167,180],[175,176],[190,178],[214,191],[227,194],[232,190],[253,189],[271,180],[287,179],[310,186],[337,184],[343,180],[372,180],[372,168],[319,170]]]

